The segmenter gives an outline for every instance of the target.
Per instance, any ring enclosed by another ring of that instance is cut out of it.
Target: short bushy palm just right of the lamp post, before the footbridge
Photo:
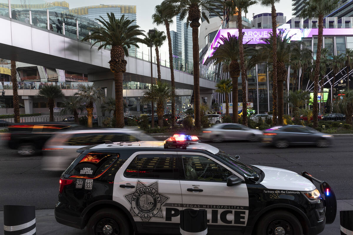
[[[157,103],[158,126],[163,127],[164,103],[173,97],[172,88],[165,82],[157,81],[157,85],[152,85],[151,89],[145,89],[142,103],[148,104],[152,100]],[[152,117],[152,122],[154,119]]]

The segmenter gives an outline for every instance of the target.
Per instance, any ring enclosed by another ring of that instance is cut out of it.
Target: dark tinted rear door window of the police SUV
[[[174,179],[176,159],[172,154],[137,155],[125,170],[125,177]]]

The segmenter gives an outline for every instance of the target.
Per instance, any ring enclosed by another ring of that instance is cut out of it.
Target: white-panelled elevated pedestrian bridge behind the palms
[[[0,16],[0,58],[39,66],[88,74],[88,80],[100,87],[107,87],[107,96],[114,95],[113,73],[110,72],[110,50],[91,48],[90,42],[81,42],[78,37],[64,35],[25,22]],[[130,50],[131,52],[132,50]],[[149,56],[132,51],[127,60],[124,81],[150,83]],[[153,61],[153,59],[152,59]],[[168,61],[161,61],[161,76],[170,82]],[[157,76],[156,63],[152,65],[154,81]],[[193,75],[174,70],[175,86],[193,89]],[[215,82],[200,79],[200,93],[208,94],[215,89]],[[201,95],[201,97],[203,97]]]

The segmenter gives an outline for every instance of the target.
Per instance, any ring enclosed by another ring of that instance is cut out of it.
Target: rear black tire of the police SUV
[[[102,209],[91,216],[87,223],[88,235],[103,235],[103,229],[111,230],[111,235],[132,234],[126,215],[114,209]],[[109,233],[108,233],[109,234]]]

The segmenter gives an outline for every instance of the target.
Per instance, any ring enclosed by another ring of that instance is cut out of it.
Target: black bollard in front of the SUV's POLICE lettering
[[[182,235],[206,235],[207,211],[193,209],[180,211],[180,233]]]

